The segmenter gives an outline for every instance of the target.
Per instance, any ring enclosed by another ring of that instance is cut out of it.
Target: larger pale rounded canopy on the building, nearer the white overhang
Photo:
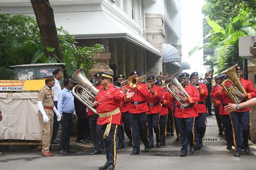
[[[170,44],[163,44],[162,56],[164,63],[180,61],[180,54],[178,50]]]

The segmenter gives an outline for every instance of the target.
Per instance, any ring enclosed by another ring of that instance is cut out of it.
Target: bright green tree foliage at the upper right
[[[238,40],[242,36],[256,35],[256,1],[205,0],[202,12],[211,29],[204,37],[207,42],[196,46],[189,55],[203,47],[213,47],[212,63],[217,65],[218,74],[236,63],[242,64]]]

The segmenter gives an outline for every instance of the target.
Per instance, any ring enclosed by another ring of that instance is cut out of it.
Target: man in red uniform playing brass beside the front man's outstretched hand
[[[139,78],[139,70],[131,72],[130,76]],[[140,154],[140,137],[145,146],[145,151],[149,151],[149,139],[147,135],[147,111],[148,105],[146,98],[148,96],[147,84],[138,83],[135,88],[130,88],[130,92],[134,92],[134,96],[131,97],[130,113],[131,117],[129,123],[132,128],[132,143],[133,149],[131,155]]]

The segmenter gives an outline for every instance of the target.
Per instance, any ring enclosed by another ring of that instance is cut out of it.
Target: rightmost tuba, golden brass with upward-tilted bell
[[[229,79],[222,82],[223,89],[227,92],[228,96],[235,104],[241,103],[243,99],[240,98],[241,94],[246,94],[242,83],[239,81],[239,77],[236,73],[237,64],[229,67],[221,74],[227,74]]]

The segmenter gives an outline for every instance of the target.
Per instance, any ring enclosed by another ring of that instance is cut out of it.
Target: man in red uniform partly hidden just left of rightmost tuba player
[[[221,85],[222,81],[228,78],[227,75],[222,74],[220,75],[219,78],[220,78],[220,85],[217,86],[217,88],[215,89],[213,100],[214,100],[214,103],[216,103],[219,106],[220,116],[224,126],[224,132],[225,132],[225,137],[227,142],[227,149],[229,150],[229,149],[232,149],[232,143],[233,143],[232,125],[231,125],[229,113],[225,111],[224,107],[228,103],[232,102],[232,100],[229,98],[227,93],[223,90]]]

